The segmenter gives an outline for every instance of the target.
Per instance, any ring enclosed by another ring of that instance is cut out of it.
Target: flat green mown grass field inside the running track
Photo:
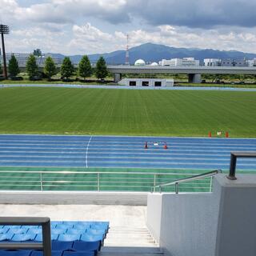
[[[5,88],[1,134],[256,137],[256,92]]]

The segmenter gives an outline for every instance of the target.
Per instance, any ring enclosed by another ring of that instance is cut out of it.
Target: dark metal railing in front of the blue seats
[[[42,250],[44,256],[51,256],[50,218],[1,217],[0,225],[42,226],[42,242],[1,242],[0,250]]]

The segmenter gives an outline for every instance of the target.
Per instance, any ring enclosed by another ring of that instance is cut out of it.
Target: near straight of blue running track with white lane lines
[[[0,135],[0,166],[228,170],[231,151],[256,151],[256,139]],[[238,159],[238,170],[256,170],[256,159]]]

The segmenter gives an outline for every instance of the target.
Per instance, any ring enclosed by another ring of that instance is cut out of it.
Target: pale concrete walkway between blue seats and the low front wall
[[[1,204],[0,216],[50,217],[52,221],[109,221],[110,227],[146,228],[146,206]]]

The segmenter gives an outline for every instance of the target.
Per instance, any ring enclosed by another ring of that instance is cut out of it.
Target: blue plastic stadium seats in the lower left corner
[[[51,222],[52,256],[94,256],[109,222]],[[0,242],[42,242],[41,226],[0,226]],[[39,256],[37,250],[0,250],[0,256]]]

